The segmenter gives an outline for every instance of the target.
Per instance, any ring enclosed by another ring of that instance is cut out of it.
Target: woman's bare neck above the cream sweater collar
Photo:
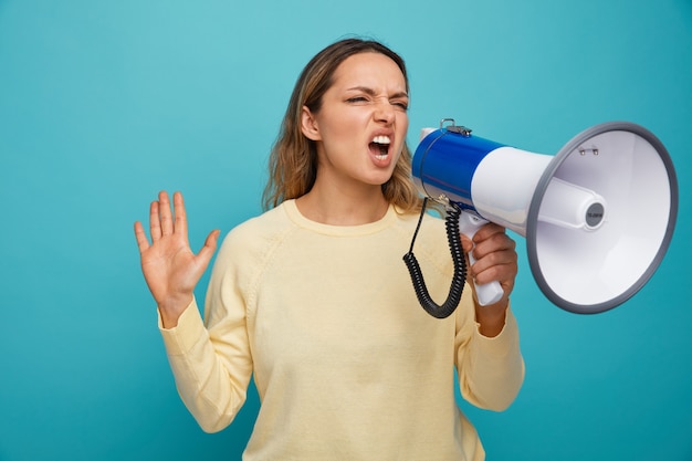
[[[380,186],[358,193],[315,187],[296,200],[301,213],[311,221],[332,226],[359,226],[380,220],[389,209]]]

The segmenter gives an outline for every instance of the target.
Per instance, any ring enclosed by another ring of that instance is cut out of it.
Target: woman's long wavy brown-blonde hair
[[[316,113],[322,97],[334,83],[334,72],[347,57],[375,52],[390,57],[401,70],[409,91],[403,60],[389,48],[374,40],[349,38],[331,44],[317,53],[303,69],[289,102],[281,129],[269,158],[269,179],[262,195],[262,206],[269,210],[285,200],[307,193],[317,176],[315,142],[301,130],[301,112],[306,106]],[[411,181],[411,151],[406,143],[391,178],[382,185],[385,198],[400,212],[420,211],[421,198]]]

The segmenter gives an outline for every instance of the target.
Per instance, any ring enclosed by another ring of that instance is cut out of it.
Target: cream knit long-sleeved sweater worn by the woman
[[[469,286],[445,319],[418,304],[402,256],[418,217],[335,227],[294,201],[229,233],[205,322],[196,303],[161,329],[178,390],[206,431],[227,427],[252,375],[261,408],[243,459],[482,460],[454,401],[503,410],[524,377],[511,311],[483,337]],[[426,217],[415,253],[433,298],[450,284],[443,222]]]

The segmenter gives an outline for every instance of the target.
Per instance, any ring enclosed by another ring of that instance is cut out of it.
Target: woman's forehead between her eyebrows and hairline
[[[367,86],[405,92],[407,84],[403,73],[390,57],[381,53],[364,52],[348,56],[336,67],[333,86]]]

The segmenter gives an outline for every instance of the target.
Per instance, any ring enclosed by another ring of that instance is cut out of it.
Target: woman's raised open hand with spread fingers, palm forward
[[[149,232],[151,243],[141,222],[135,222],[141,272],[156,301],[164,327],[171,328],[178,324],[180,314],[192,301],[195,285],[217,249],[219,231],[212,231],[205,247],[195,254],[188,241],[182,195],[174,193],[171,211],[168,193],[161,191],[149,209]]]

